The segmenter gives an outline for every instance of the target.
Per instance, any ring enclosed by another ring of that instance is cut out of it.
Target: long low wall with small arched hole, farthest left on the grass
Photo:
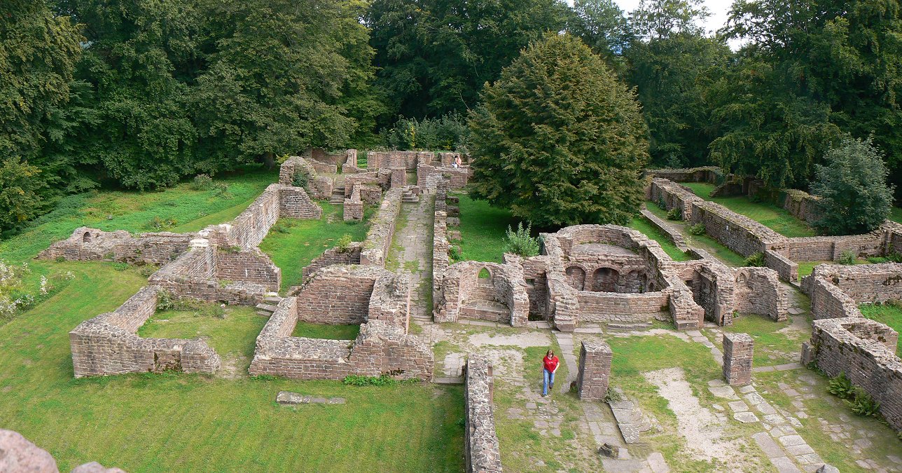
[[[69,238],[55,242],[41,251],[38,258],[166,264],[184,253],[195,236],[191,233],[169,232],[132,236],[125,230],[105,232],[97,228],[78,227]]]

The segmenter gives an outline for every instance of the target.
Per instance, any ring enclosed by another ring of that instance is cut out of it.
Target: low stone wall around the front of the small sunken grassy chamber
[[[257,337],[251,376],[343,379],[391,374],[432,379],[432,349],[419,337],[385,320],[369,320],[354,340],[291,337],[303,300],[285,298]]]

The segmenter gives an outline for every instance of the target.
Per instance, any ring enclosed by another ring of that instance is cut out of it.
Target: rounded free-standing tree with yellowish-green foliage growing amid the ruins
[[[626,224],[639,209],[639,103],[583,42],[548,34],[482,98],[470,116],[475,198],[540,227]]]

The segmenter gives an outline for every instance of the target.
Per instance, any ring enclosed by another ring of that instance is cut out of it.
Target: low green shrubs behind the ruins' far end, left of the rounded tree
[[[466,153],[470,129],[464,116],[449,112],[438,118],[402,118],[382,130],[382,144],[397,150],[459,151]]]

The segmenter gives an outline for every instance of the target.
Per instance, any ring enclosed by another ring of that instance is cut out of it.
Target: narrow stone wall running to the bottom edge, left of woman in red
[[[464,458],[468,473],[502,471],[492,390],[492,364],[483,355],[471,355],[466,362],[464,394]]]

